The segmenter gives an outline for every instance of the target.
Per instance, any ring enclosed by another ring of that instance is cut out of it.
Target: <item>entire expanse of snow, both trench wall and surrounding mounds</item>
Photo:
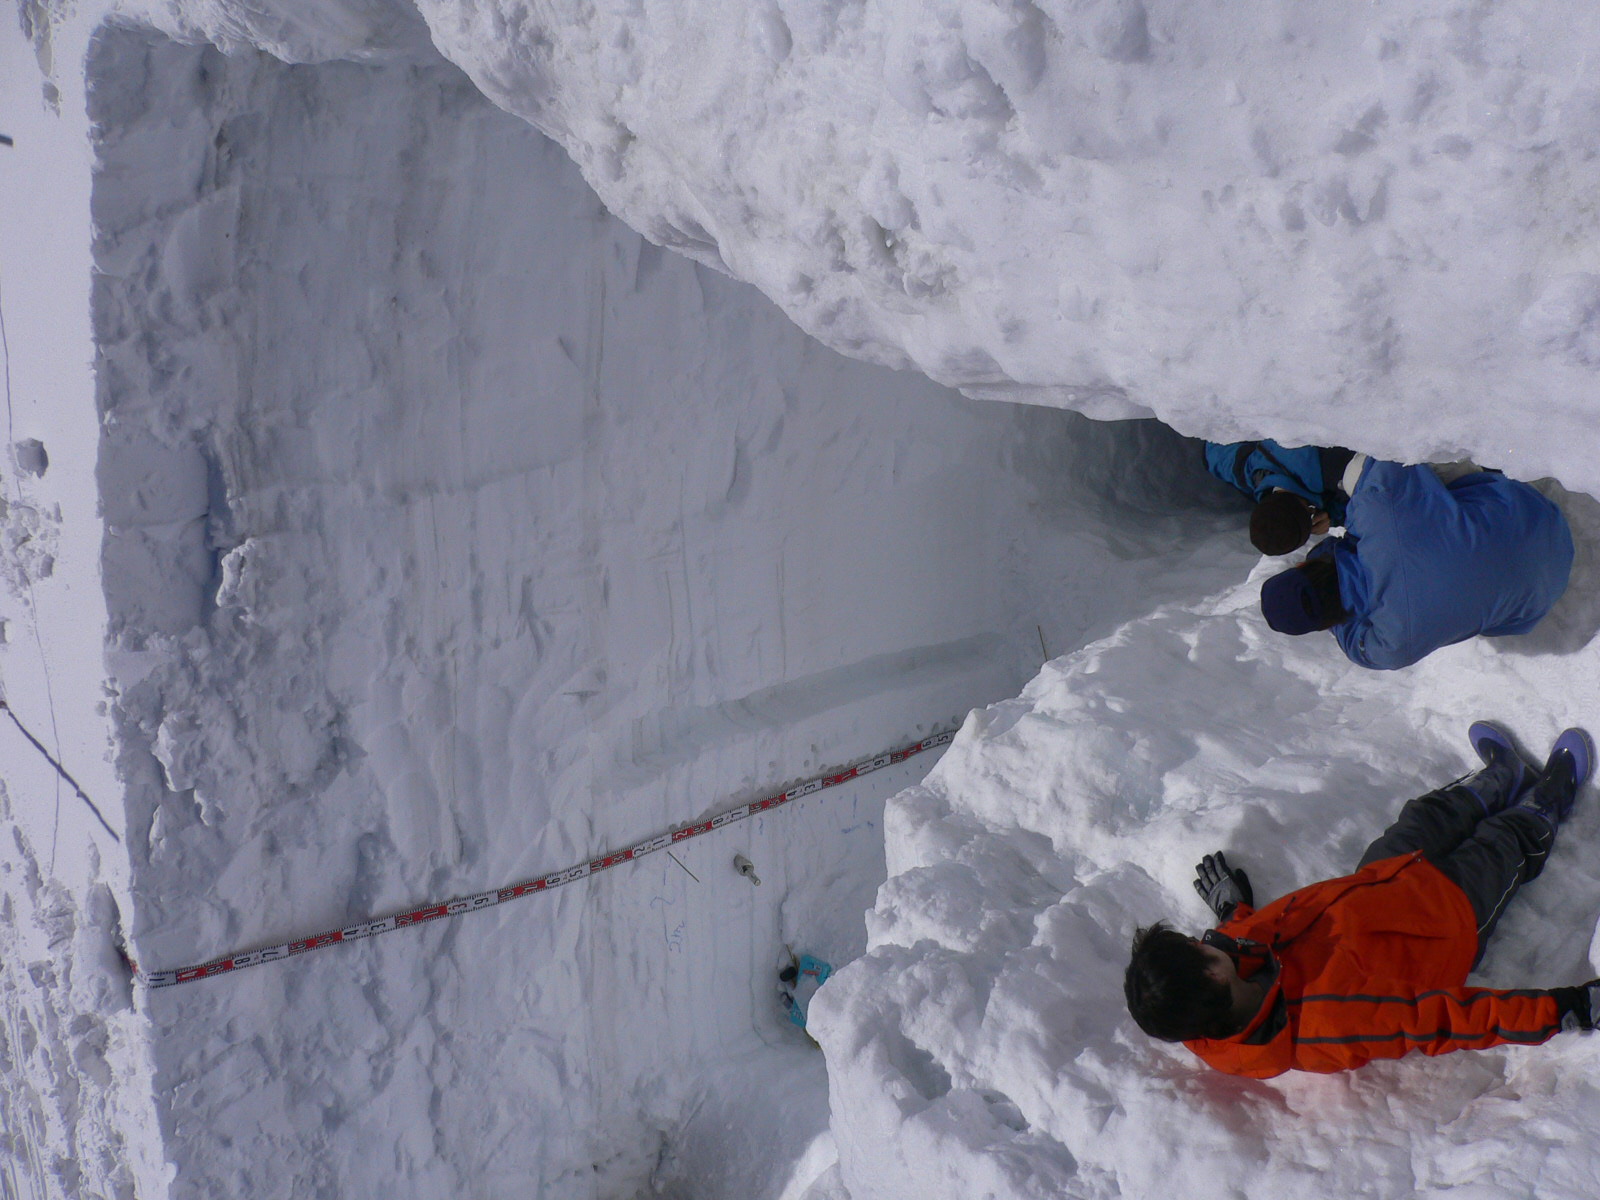
[[[112,832],[0,714],[6,1195],[1600,1190],[1600,1042],[1240,1082],[1120,997],[1134,925],[1205,926],[1200,854],[1278,894],[1466,771],[1469,720],[1600,722],[1600,18],[19,14],[0,678]],[[1266,630],[1192,442],[1064,408],[1554,475],[1571,589],[1360,670]],[[486,914],[160,992],[120,958],[950,725]],[[1600,973],[1597,837],[1590,795],[1482,979]],[[786,946],[840,966],[821,1053]]]

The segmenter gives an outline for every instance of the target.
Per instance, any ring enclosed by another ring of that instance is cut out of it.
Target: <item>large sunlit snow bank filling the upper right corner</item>
[[[608,208],[846,354],[1600,485],[1589,6],[419,6]]]

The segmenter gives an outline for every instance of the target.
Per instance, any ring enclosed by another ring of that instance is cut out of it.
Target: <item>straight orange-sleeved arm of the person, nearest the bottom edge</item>
[[[1563,1029],[1589,1029],[1589,987],[1514,989],[1446,987],[1419,990],[1398,979],[1365,979],[1358,989],[1320,992],[1307,986],[1290,998],[1294,1066],[1301,1070],[1346,1070],[1413,1050],[1531,1046]],[[1582,1010],[1578,1018],[1578,1010]]]

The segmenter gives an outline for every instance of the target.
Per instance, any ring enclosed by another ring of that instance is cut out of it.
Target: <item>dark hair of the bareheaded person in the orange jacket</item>
[[[1122,992],[1139,1029],[1162,1042],[1237,1034],[1234,994],[1210,966],[1200,946],[1166,922],[1136,930]]]

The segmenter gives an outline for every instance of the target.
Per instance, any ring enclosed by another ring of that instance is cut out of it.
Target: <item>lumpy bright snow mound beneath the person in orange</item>
[[[1227,850],[1261,899],[1347,874],[1405,800],[1477,765],[1472,718],[1539,752],[1600,710],[1590,648],[1480,638],[1402,677],[1325,635],[1274,635],[1264,570],[1051,662],[891,800],[870,950],[811,1019],[853,1200],[1600,1187],[1595,1038],[1253,1082],[1126,1016],[1134,926],[1211,923],[1190,888],[1202,854]],[[1594,634],[1587,602],[1552,622]],[[1597,838],[1587,795],[1477,978],[1597,974]]]

